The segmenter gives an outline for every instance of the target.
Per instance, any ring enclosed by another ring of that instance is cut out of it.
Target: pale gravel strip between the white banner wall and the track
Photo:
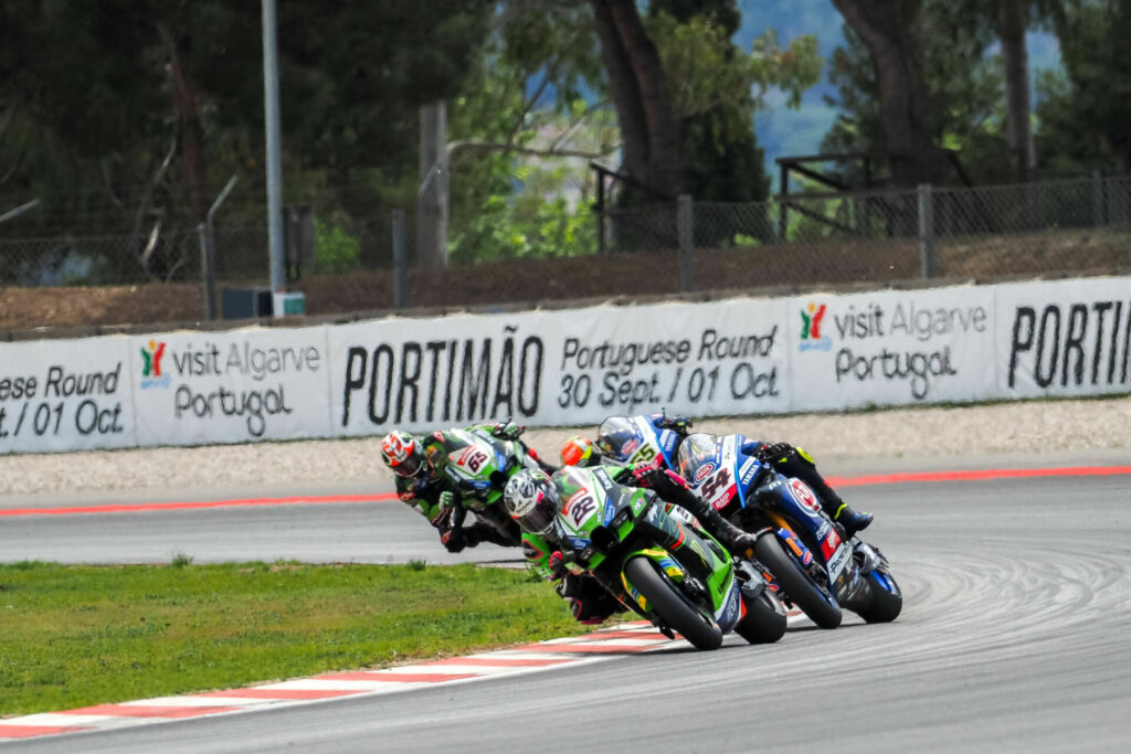
[[[854,414],[702,419],[697,430],[784,440],[829,461],[958,457],[1104,454],[1131,461],[1131,398],[1036,400],[972,407],[925,407]],[[595,427],[532,428],[525,439],[547,459],[561,443]],[[380,437],[313,440],[200,448],[86,451],[0,457],[0,494],[256,484],[388,486]]]

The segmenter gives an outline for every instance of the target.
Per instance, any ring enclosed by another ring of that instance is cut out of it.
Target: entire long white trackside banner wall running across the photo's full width
[[[0,453],[1131,390],[1131,278],[0,344]]]

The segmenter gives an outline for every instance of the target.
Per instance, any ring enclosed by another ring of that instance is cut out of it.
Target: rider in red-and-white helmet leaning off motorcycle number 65
[[[526,427],[510,423],[483,424],[469,430],[486,430],[492,436],[512,440],[537,460],[537,454],[519,440]],[[449,553],[458,553],[465,547],[476,547],[490,541],[500,547],[513,547],[520,532],[518,527],[501,511],[476,512],[480,519],[470,526],[463,526],[467,510],[463,505],[464,494],[443,467],[448,462],[444,450],[447,432],[413,435],[394,430],[381,440],[381,460],[396,475],[397,496],[429,520],[440,534],[440,544]],[[541,465],[542,461],[539,460]],[[551,468],[552,467],[546,467]]]

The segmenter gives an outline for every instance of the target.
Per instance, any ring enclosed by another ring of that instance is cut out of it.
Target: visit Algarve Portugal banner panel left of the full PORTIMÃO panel
[[[133,337],[130,364],[143,445],[330,433],[326,328]]]

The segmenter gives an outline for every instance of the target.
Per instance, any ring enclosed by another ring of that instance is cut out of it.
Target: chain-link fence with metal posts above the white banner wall
[[[266,213],[251,193],[233,192],[215,215],[218,287],[268,283]],[[794,194],[761,203],[681,198],[594,213],[590,235],[569,252],[559,244],[555,255],[534,248],[525,255],[483,259],[451,249],[454,261],[447,267],[418,263],[420,228],[409,207],[402,234],[406,263],[399,274],[394,269],[392,208],[364,192],[329,193],[310,192],[287,205],[307,223],[304,235],[293,229],[301,223],[287,224],[288,285],[305,293],[311,314],[1131,268],[1126,176]],[[18,199],[0,203],[0,214]],[[162,281],[200,287],[205,237],[202,225],[188,213],[156,218],[150,213],[144,222],[137,213],[130,231],[118,234],[110,232],[114,223],[109,213],[94,213],[98,222],[93,223],[35,213],[0,222],[0,286]],[[50,235],[46,227],[67,227],[68,233]],[[449,227],[448,237],[463,237],[460,231]],[[311,249],[303,251],[303,244]],[[195,298],[196,309],[180,312],[179,319],[199,317],[199,305]],[[178,318],[176,311],[170,317]]]

